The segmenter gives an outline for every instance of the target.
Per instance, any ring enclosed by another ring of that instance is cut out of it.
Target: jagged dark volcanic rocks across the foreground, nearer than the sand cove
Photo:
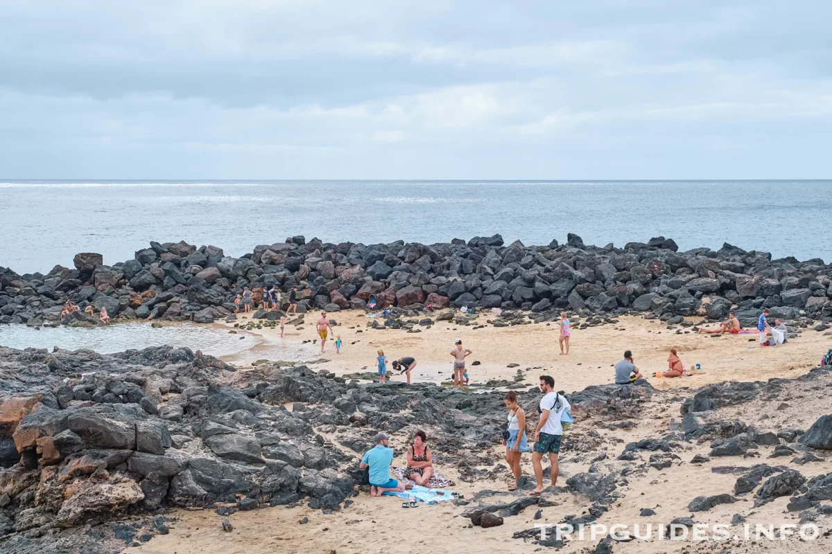
[[[768,457],[778,458],[776,465],[715,464],[713,472],[737,475],[735,489],[692,498],[691,514],[756,491],[754,507],[790,497],[789,511],[816,521],[832,514],[824,503],[832,500],[832,473],[806,478],[801,468],[825,463],[832,416],[807,431],[785,425],[774,408],[754,423],[724,414],[756,402],[795,402],[828,386],[832,370],[820,367],[795,380],[700,390],[654,390],[645,381],[588,387],[567,395],[578,423],[562,452],[564,467],[586,470],[568,474],[541,498],[485,489],[456,504],[465,507],[463,517],[479,521],[488,513],[488,525],[498,525],[572,493],[585,509],[567,522],[589,523],[626,497],[628,480],[712,459],[760,457],[761,449],[773,447]],[[496,390],[474,395],[435,385],[362,385],[303,365],[235,372],[211,356],[169,346],[113,355],[0,348],[0,390],[4,553],[120,552],[168,532],[171,507],[210,507],[217,524],[221,516],[258,507],[349,509],[358,494],[356,459],[379,430],[405,437],[425,429],[440,463],[463,482],[488,486],[508,476],[494,457],[505,421],[503,393]],[[539,398],[536,389],[520,393],[532,427]],[[645,410],[658,404],[676,405],[676,423],[622,444],[616,434],[650,422],[654,416]],[[832,411],[825,398],[820,404]],[[786,421],[789,408],[777,406]],[[691,456],[703,447],[707,455]],[[514,536],[538,542],[532,530]]]

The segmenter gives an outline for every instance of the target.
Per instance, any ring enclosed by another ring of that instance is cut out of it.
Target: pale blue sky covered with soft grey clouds
[[[2,0],[0,179],[823,179],[823,0]]]

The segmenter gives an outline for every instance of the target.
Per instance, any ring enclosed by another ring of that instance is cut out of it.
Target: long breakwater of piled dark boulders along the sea
[[[214,246],[151,243],[126,262],[105,265],[100,254],[87,252],[74,265],[47,275],[0,267],[0,323],[97,323],[82,311],[62,319],[67,300],[82,309],[104,307],[116,319],[212,322],[233,314],[243,287],[260,302],[264,287],[273,286],[284,293],[298,287],[301,312],[362,309],[374,297],[379,307],[519,309],[548,319],[561,309],[582,316],[639,313],[671,325],[686,324],[686,316],[718,321],[734,305],[743,326],[753,326],[762,307],[801,326],[832,319],[832,265],[820,259],[771,259],[727,243],[718,251],[678,252],[663,237],[624,248],[587,246],[573,234],[566,244],[530,247],[506,246],[500,235],[432,245],[293,237],[242,257]],[[277,312],[271,314],[255,316]]]

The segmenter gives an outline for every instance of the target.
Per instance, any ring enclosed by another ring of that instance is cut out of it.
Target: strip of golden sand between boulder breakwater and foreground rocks
[[[756,333],[713,337],[697,334],[691,328],[680,328],[683,334],[679,335],[661,321],[622,316],[617,324],[574,329],[569,355],[560,355],[556,322],[493,327],[487,324],[493,316],[486,313],[478,316],[476,325],[458,326],[451,321],[438,321],[430,328],[418,327],[421,332],[409,333],[372,329],[367,325],[373,320],[363,311],[339,311],[329,316],[338,323],[333,327],[334,335],[341,336],[344,347],[336,354],[333,342],[328,341],[322,355],[319,342],[312,342],[318,340],[314,322],[319,316],[320,311],[311,311],[305,315],[302,326],[287,325],[283,339],[278,327],[254,329],[251,332],[265,341],[240,355],[223,359],[245,370],[254,360],[284,360],[281,355],[288,354],[295,356],[290,360],[314,362],[315,368],[343,375],[375,371],[376,351],[382,349],[390,361],[403,356],[416,359],[417,366],[411,374],[414,382],[439,383],[451,379],[450,351],[454,341],[462,339],[463,346],[473,351],[468,357],[468,377],[472,384],[492,379],[513,380],[519,369],[527,373],[527,380],[522,382],[530,386],[537,385],[537,376],[545,373],[555,378],[557,390],[573,392],[588,385],[612,383],[612,365],[622,359],[626,350],[632,351],[636,365],[642,374],[650,377],[653,385],[698,388],[726,380],[794,378],[817,365],[826,349],[832,347],[832,337],[811,329],[803,330],[798,338],[785,345],[760,348]],[[250,315],[239,317],[236,323],[240,326],[252,321]],[[233,328],[234,323],[221,325]],[[478,325],[485,326],[473,328]],[[676,348],[686,367],[699,364],[701,370],[690,377],[656,379],[656,371],[667,369],[670,348]],[[472,365],[474,361],[480,365]],[[509,364],[519,367],[509,368]],[[404,380],[404,376],[392,371],[388,377]]]

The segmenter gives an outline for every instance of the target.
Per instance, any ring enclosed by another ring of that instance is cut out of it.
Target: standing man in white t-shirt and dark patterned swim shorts
[[[537,422],[537,429],[534,433],[534,447],[532,448],[532,465],[534,466],[534,477],[537,479],[537,488],[531,496],[540,496],[543,492],[543,455],[549,454],[549,462],[552,464],[552,487],[557,483],[557,454],[561,451],[561,437],[563,425],[561,414],[564,409],[569,408],[567,399],[554,391],[555,380],[550,375],[540,376],[540,390],[543,391],[543,398],[540,399],[540,421]]]

